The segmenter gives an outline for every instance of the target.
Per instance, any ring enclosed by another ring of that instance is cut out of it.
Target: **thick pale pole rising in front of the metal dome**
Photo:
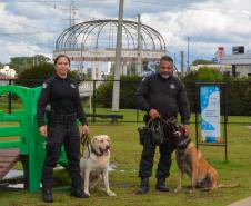
[[[113,81],[113,92],[112,92],[112,111],[119,111],[122,23],[123,23],[123,0],[120,0],[119,21],[118,21],[118,31],[117,31],[117,46],[116,46],[114,81]]]

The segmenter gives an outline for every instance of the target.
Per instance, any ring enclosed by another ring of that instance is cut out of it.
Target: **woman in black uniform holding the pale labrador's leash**
[[[80,177],[80,135],[77,118],[82,124],[83,134],[89,133],[80,95],[74,82],[68,78],[70,59],[66,55],[59,55],[54,59],[56,76],[46,80],[38,101],[39,131],[46,137],[46,160],[42,170],[42,198],[44,202],[53,202],[51,186],[52,173],[56,167],[62,145],[69,163],[71,176],[71,195],[78,198],[88,197],[81,189]],[[44,124],[44,114],[49,107],[48,124]]]

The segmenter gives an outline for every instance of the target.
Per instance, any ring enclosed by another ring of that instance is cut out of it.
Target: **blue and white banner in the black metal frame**
[[[200,87],[202,141],[220,143],[220,88],[218,86]]]

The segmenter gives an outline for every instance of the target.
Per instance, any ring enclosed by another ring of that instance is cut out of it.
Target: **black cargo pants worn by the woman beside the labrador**
[[[72,189],[81,187],[82,183],[79,166],[80,135],[76,124],[76,116],[56,116],[56,118],[48,124],[46,160],[41,179],[43,190],[51,189],[52,173],[60,158],[62,145],[67,154]]]

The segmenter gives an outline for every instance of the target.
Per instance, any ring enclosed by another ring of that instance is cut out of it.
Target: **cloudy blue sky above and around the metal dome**
[[[54,42],[69,27],[70,0],[0,0],[0,62],[11,57],[42,53],[52,57]],[[119,0],[74,0],[76,22],[118,18]],[[190,37],[190,62],[210,59],[223,46],[251,50],[250,0],[124,0],[124,19],[141,21],[164,38],[173,57],[184,51]],[[178,60],[179,61],[179,60]],[[187,61],[187,59],[185,59]],[[178,62],[179,63],[179,62]]]

